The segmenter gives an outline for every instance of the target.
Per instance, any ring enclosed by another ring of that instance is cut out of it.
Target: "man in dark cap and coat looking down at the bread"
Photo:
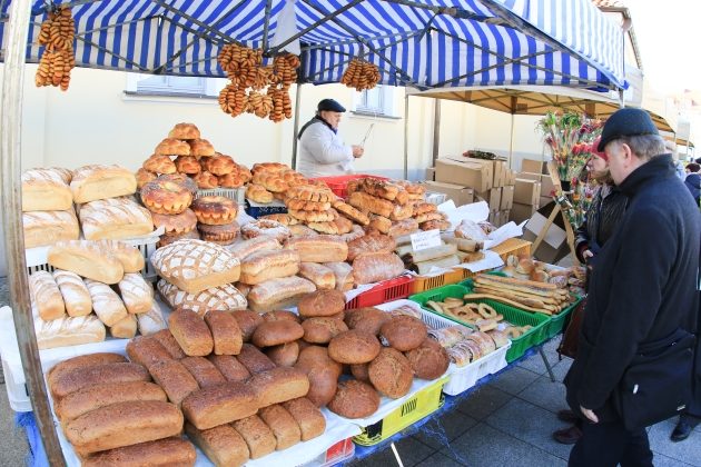
[[[613,395],[639,346],[697,329],[701,215],[645,111],[611,116],[599,150],[629,201],[591,276],[565,378],[570,407],[588,421],[570,465],[652,466],[645,429],[624,427]]]

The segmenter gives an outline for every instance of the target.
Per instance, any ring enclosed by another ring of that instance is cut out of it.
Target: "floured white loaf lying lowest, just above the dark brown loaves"
[[[95,315],[45,321],[34,318],[39,349],[70,347],[105,340],[105,325]]]

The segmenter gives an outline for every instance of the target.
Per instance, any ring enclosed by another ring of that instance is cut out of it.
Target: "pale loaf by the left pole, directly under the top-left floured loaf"
[[[23,212],[22,228],[24,248],[46,247],[80,238],[80,226],[72,207],[66,211]]]

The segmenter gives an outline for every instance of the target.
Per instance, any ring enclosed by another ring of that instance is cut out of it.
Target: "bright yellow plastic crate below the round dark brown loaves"
[[[376,424],[363,428],[363,433],[355,436],[353,441],[361,446],[376,445],[436,411],[445,404],[443,386],[448,378],[448,376],[444,376],[431,386],[416,393],[392,414]]]

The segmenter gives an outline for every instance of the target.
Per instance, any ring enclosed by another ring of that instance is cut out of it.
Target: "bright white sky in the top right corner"
[[[645,79],[663,93],[701,90],[701,2],[622,0],[633,18]]]

